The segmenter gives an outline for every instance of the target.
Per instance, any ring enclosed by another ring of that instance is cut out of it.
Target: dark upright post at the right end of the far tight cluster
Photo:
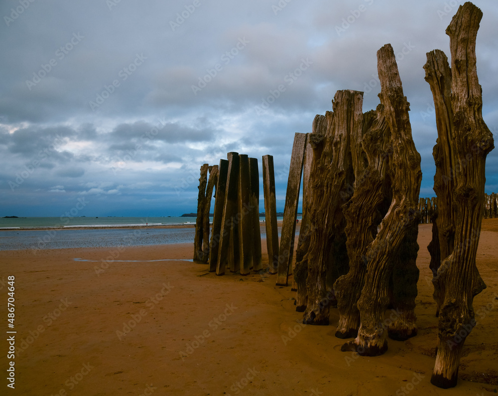
[[[252,270],[263,268],[261,263],[261,231],[259,225],[259,169],[257,158],[249,158],[250,199],[249,206],[252,223]]]

